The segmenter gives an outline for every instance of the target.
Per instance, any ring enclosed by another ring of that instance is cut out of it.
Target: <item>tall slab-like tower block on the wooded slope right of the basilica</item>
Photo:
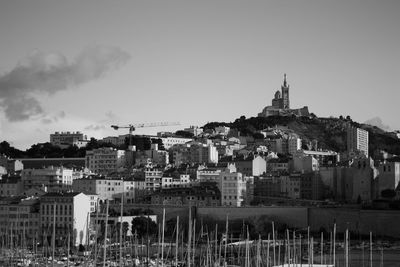
[[[347,151],[368,157],[368,131],[349,126],[347,129]]]

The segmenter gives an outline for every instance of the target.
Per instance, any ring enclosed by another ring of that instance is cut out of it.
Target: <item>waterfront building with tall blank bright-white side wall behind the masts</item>
[[[87,229],[90,225],[89,196],[73,192],[54,192],[43,195],[40,198],[40,234],[42,240],[45,237],[52,236],[54,224],[57,245],[65,245],[68,234],[70,234],[71,242],[75,246],[86,244]]]

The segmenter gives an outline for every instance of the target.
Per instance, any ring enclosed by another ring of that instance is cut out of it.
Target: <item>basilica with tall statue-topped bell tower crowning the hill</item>
[[[283,84],[281,91],[276,91],[275,97],[272,99],[272,105],[266,106],[258,117],[269,117],[269,116],[309,116],[308,107],[304,106],[298,109],[290,108],[289,100],[289,84],[286,81],[286,74],[283,78]]]

